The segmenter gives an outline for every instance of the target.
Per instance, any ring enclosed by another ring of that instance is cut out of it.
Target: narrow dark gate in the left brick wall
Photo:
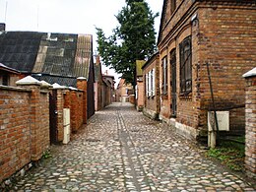
[[[58,141],[57,133],[57,91],[52,91],[49,94],[49,114],[50,114],[50,144],[56,144]]]

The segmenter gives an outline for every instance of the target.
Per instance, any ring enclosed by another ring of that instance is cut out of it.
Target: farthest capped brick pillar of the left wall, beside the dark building
[[[83,123],[87,123],[87,79],[80,77],[77,79],[77,88],[84,91],[83,93]]]

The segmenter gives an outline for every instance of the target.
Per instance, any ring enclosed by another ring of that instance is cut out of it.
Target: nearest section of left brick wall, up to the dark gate
[[[37,86],[0,88],[0,183],[48,149],[47,100]]]

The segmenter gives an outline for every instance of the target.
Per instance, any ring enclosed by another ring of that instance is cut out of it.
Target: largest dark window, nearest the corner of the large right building
[[[180,51],[180,93],[188,94],[192,91],[191,36],[186,37],[179,44],[179,51]]]

